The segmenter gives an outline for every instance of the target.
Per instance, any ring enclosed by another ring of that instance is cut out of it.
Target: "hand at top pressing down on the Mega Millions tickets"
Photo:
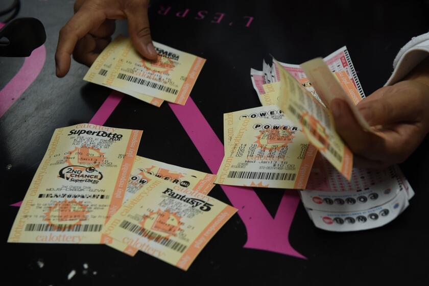
[[[57,77],[70,69],[70,56],[91,65],[110,42],[115,19],[128,19],[128,32],[141,56],[155,60],[148,20],[149,0],[77,0],[75,15],[60,30],[55,65]]]

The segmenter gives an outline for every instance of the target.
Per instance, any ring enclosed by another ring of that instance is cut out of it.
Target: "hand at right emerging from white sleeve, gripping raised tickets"
[[[422,79],[382,87],[358,104],[375,134],[362,129],[345,101],[331,102],[337,132],[355,155],[355,165],[387,168],[420,145],[429,131],[429,84]]]

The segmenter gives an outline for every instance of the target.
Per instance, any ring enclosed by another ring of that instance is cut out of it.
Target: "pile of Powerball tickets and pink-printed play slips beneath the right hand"
[[[414,192],[398,166],[352,168],[353,154],[335,131],[329,103],[355,107],[365,94],[346,47],[301,65],[263,62],[251,69],[261,107],[224,114],[225,157],[215,183],[298,189],[316,227],[330,231],[385,225]]]

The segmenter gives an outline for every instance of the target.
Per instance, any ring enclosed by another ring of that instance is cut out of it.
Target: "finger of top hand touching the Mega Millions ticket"
[[[149,29],[148,3],[149,1],[130,1],[124,12],[128,18],[128,32],[134,48],[142,57],[156,60],[158,54]]]

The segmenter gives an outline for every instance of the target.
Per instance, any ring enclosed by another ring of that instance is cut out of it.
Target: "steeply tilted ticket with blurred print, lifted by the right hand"
[[[332,114],[277,61],[274,60],[274,63],[280,75],[281,96],[278,106],[287,113],[288,118],[302,127],[312,145],[349,180],[353,154],[336,132]]]

